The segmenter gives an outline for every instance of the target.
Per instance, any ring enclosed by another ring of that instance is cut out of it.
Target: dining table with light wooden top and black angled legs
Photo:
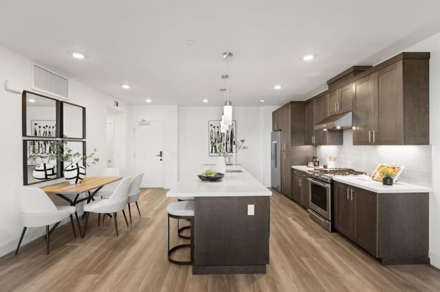
[[[121,180],[121,176],[88,176],[80,184],[70,184],[69,182],[60,182],[58,184],[51,184],[50,186],[43,186],[41,189],[47,193],[47,195],[57,195],[65,201],[69,202],[70,206],[75,206],[81,202],[90,202],[93,200],[94,195],[106,184],[117,182]],[[85,193],[86,196],[80,198],[80,194]],[[74,198],[67,197],[67,195],[74,195]],[[78,213],[75,212],[76,223],[78,224],[78,230],[80,236],[84,237],[83,228],[81,228]]]

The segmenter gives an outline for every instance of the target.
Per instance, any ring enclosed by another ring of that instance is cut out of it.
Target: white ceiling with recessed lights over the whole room
[[[232,51],[233,104],[281,105],[439,32],[439,11],[437,0],[1,0],[0,45],[129,104],[182,106],[223,104]]]

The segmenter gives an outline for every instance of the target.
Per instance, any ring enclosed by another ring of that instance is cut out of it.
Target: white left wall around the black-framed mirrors
[[[5,91],[5,80],[12,80],[23,84],[25,90],[31,86],[31,60],[8,49],[0,47],[0,121],[8,125],[2,129],[0,153],[3,154],[2,164],[8,167],[0,168],[0,256],[11,252],[17,247],[23,225],[19,217],[19,206],[15,195],[15,188],[23,185],[23,153],[21,133],[21,95]],[[63,73],[63,72],[58,72]],[[63,74],[65,75],[65,74]],[[105,134],[107,108],[103,105],[113,104],[113,98],[85,86],[76,80],[69,80],[69,102],[85,106],[87,119],[87,152],[97,148],[98,165],[87,169],[89,175],[102,173],[105,167]],[[126,105],[121,103],[122,108]],[[50,182],[53,183],[54,181]],[[35,184],[41,186],[43,184]],[[57,204],[64,201],[54,198]],[[44,228],[29,228],[23,243],[35,239],[43,234]]]

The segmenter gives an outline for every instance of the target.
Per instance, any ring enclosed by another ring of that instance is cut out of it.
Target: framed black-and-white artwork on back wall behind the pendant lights
[[[223,150],[228,156],[236,152],[236,122],[232,121],[225,133],[220,132],[220,120],[208,121],[208,154],[219,156]]]

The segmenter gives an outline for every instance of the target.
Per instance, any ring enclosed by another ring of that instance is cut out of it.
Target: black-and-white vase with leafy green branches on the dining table
[[[80,152],[69,147],[66,137],[58,141],[58,147],[61,149],[57,157],[58,160],[67,162],[67,167],[64,168],[64,178],[71,184],[78,184],[85,178],[84,165],[89,167],[90,165],[96,165],[96,162],[99,161],[99,158],[95,157],[96,148],[89,155],[80,154]],[[82,163],[80,163],[81,160]]]

